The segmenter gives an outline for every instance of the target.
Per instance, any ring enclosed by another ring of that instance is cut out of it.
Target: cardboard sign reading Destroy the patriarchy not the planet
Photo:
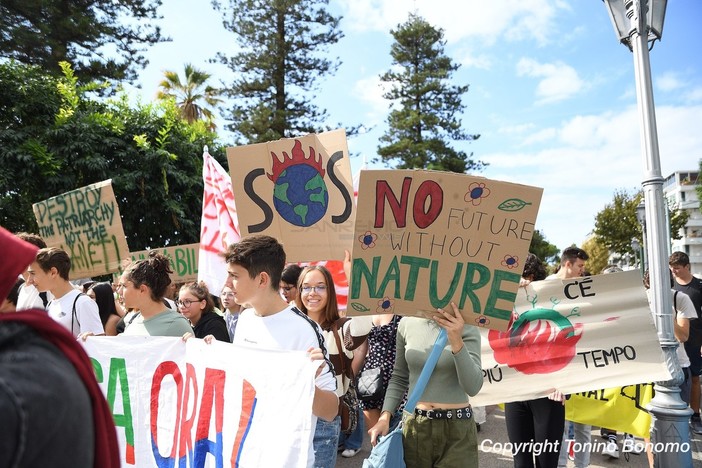
[[[98,182],[32,205],[39,235],[71,257],[71,278],[120,270],[127,239],[112,180]]]

